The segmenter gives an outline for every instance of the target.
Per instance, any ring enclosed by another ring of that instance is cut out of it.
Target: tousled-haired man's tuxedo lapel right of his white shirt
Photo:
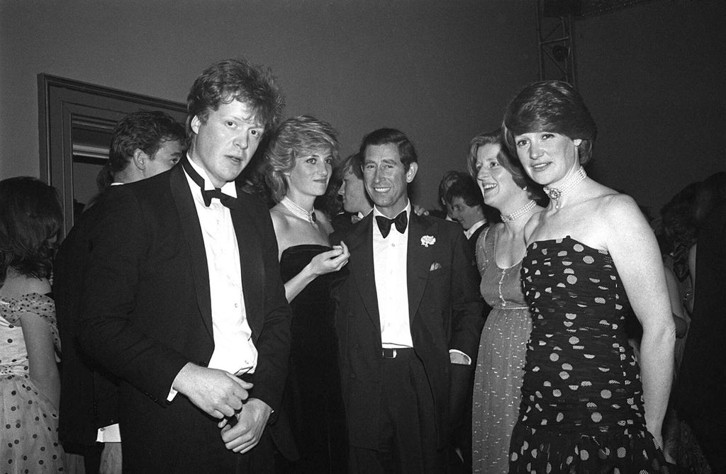
[[[262,261],[263,251],[260,248],[258,238],[262,231],[253,224],[254,219],[242,202],[244,198],[241,189],[237,189],[237,196],[240,196],[237,198],[237,205],[234,209],[230,209],[230,213],[232,213],[234,234],[237,237],[237,248],[240,250],[245,313],[247,314],[250,329],[253,329],[253,337],[256,337],[259,335],[256,316],[264,314],[262,308],[264,298],[260,296],[264,290],[262,282],[265,281],[265,267]]]

